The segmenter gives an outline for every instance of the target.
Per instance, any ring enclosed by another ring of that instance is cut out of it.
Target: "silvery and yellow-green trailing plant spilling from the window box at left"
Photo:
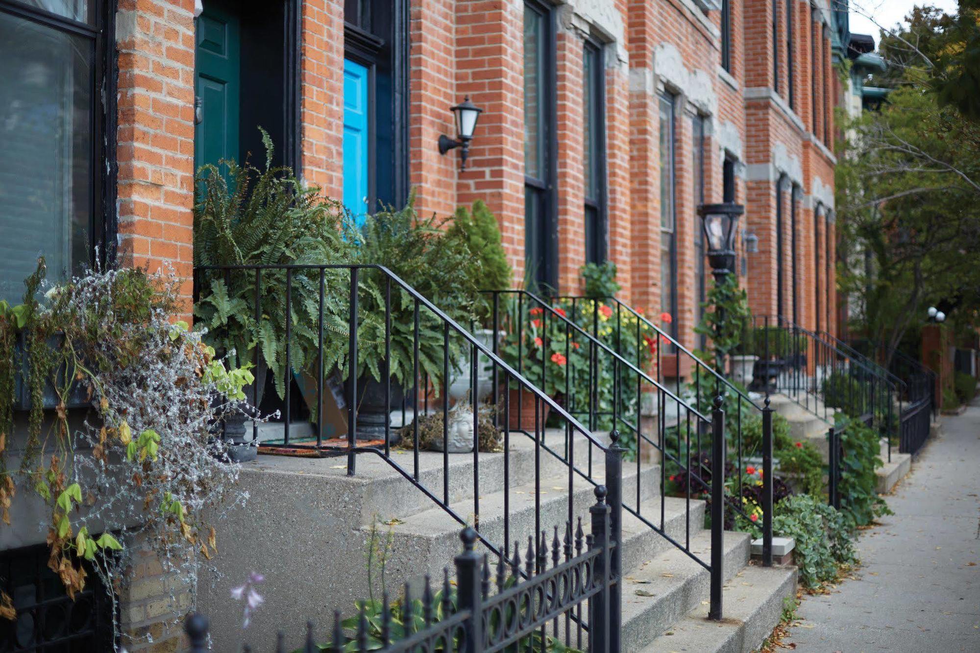
[[[43,500],[48,566],[70,596],[89,570],[112,592],[137,537],[166,572],[193,583],[201,558],[217,551],[207,511],[244,500],[238,467],[212,429],[239,410],[252,375],[225,369],[199,333],[172,324],[180,290],[172,273],[88,272],[40,297],[44,273],[41,259],[24,304],[0,311],[3,521],[18,487]],[[18,338],[23,350],[8,348]],[[30,396],[20,475],[6,465],[22,437],[7,391],[17,376]],[[83,420],[68,409],[75,392],[90,404]],[[51,411],[45,394],[55,397]]]

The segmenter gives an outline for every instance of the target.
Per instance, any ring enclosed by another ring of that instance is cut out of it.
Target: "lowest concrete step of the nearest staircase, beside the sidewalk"
[[[758,650],[762,640],[779,623],[783,600],[795,593],[796,568],[748,565],[725,583],[722,621],[709,621],[708,606],[699,605],[663,630],[661,636],[641,653],[749,653]]]

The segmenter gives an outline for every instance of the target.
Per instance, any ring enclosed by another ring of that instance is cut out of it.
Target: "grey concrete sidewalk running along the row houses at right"
[[[860,536],[858,579],[804,595],[797,651],[980,651],[980,400],[942,420]]]

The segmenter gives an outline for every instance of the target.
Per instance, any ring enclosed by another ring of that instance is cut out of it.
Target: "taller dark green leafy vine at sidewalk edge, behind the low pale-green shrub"
[[[841,513],[849,528],[866,526],[875,518],[891,515],[885,500],[875,491],[876,468],[881,462],[878,431],[861,420],[838,415],[834,428],[841,435]]]

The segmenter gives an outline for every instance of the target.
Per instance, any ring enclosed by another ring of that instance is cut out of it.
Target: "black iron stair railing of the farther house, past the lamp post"
[[[828,422],[838,410],[855,418],[870,415],[888,439],[891,461],[899,388],[863,355],[781,316],[754,316],[739,351],[759,357],[750,388],[784,394]]]

